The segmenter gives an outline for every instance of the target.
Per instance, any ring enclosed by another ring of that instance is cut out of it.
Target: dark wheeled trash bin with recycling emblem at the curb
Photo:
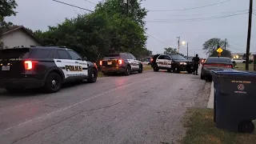
[[[256,73],[212,70],[216,127],[252,133],[256,119]]]

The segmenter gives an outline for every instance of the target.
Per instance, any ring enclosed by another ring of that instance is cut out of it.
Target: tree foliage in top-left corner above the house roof
[[[11,22],[5,22],[5,18],[10,17],[12,15],[16,15],[16,12],[14,11],[14,9],[16,9],[16,6],[17,3],[15,2],[15,0],[0,0],[0,34],[2,34],[3,29],[12,25]],[[1,41],[0,49],[3,49],[3,42]]]

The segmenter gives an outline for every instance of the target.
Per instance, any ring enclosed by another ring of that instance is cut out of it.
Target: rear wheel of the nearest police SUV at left
[[[51,72],[47,75],[44,90],[47,93],[56,93],[62,88],[62,76],[55,72]]]

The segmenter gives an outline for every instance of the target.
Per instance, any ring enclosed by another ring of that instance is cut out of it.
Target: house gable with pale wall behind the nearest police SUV
[[[3,48],[42,46],[42,42],[24,26],[10,26],[2,29],[1,39]]]

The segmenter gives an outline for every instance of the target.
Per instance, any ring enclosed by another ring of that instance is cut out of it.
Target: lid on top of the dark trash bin
[[[211,74],[215,76],[249,76],[249,77],[255,77],[256,73],[249,72],[249,71],[241,71],[241,70],[234,70],[234,69],[226,69],[226,70],[211,70]]]

